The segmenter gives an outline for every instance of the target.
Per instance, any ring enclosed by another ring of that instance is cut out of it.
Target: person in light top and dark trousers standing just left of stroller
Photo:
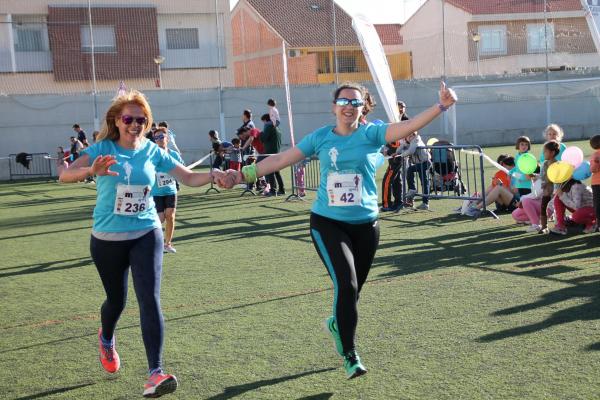
[[[418,132],[413,132],[406,137],[406,145],[402,157],[410,157],[410,167],[406,170],[406,183],[408,191],[406,192],[407,201],[412,201],[417,193],[415,186],[415,172],[419,174],[421,188],[423,191],[423,203],[417,209],[429,210],[429,169],[431,168],[431,155],[424,149],[425,143]]]

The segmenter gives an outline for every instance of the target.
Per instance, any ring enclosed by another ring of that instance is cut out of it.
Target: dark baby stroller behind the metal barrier
[[[446,140],[440,140],[434,146],[452,146]],[[431,149],[433,164],[433,188],[436,192],[454,192],[457,196],[467,191],[460,175],[460,165],[454,149]]]

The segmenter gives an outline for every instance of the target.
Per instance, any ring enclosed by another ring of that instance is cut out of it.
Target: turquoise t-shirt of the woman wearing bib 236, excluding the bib
[[[149,140],[145,141],[139,149],[130,150],[105,139],[88,147],[83,153],[89,156],[90,165],[99,155],[114,156],[117,164],[111,166],[110,170],[119,173],[118,176],[106,175],[96,178],[94,231],[130,232],[161,227],[150,191],[154,186],[156,173],[171,171],[178,165],[176,159]],[[145,199],[143,210],[139,207],[140,210],[135,210],[139,211],[136,215],[116,214],[118,186],[121,189],[141,188]]]

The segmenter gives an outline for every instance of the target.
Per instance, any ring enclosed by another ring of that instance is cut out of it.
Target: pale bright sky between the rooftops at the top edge
[[[233,8],[238,0],[230,2]],[[374,23],[396,24],[403,23],[405,15],[410,16],[423,2],[424,0],[336,0],[350,15],[362,12]]]

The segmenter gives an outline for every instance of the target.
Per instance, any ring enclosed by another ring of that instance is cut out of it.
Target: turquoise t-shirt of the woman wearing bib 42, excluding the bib
[[[306,157],[316,154],[320,162],[320,185],[312,212],[337,221],[360,224],[377,218],[377,185],[375,173],[383,164],[379,152],[386,144],[385,132],[388,125],[368,123],[360,125],[349,136],[333,132],[334,126],[324,126],[307,135],[298,143]],[[330,173],[362,175],[360,204],[353,206],[330,206],[327,192],[327,177]]]

